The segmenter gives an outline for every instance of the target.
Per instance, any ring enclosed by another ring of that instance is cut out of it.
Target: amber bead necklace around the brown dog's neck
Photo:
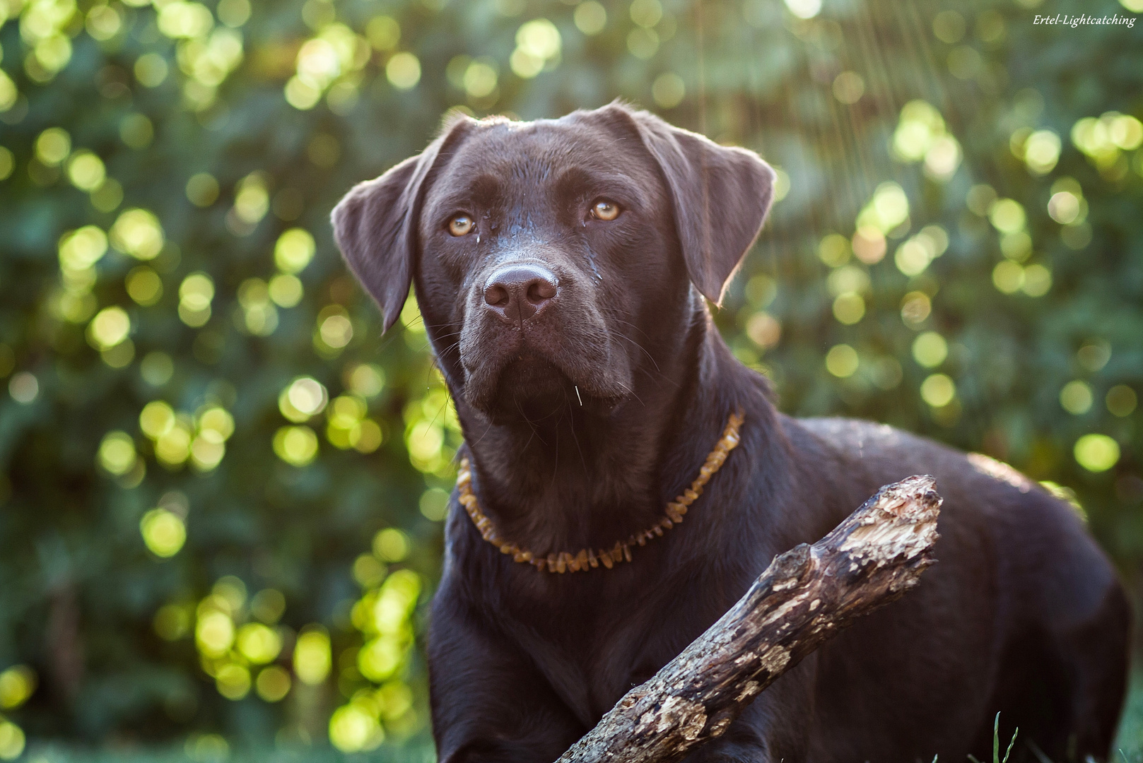
[[[493,546],[499,548],[502,554],[511,554],[512,561],[520,562],[521,564],[531,564],[541,572],[586,572],[589,569],[594,569],[600,564],[609,570],[620,562],[631,561],[631,546],[637,544],[644,546],[652,538],[661,537],[665,530],[670,530],[676,524],[682,522],[682,516],[687,513],[687,508],[698,496],[703,495],[703,485],[722,467],[727,455],[738,445],[738,427],[742,426],[743,420],[744,417],[741,410],[730,413],[730,418],[726,423],[726,429],[722,431],[722,436],[719,437],[714,449],[706,457],[706,461],[698,469],[698,476],[695,477],[689,488],[682,491],[681,496],[677,496],[674,500],[666,505],[666,515],[663,519],[652,525],[650,529],[637,532],[625,541],[617,540],[615,546],[609,549],[581,548],[577,554],[561,551],[545,556],[525,551],[514,543],[504,540],[496,533],[493,521],[480,508],[480,501],[477,500],[477,495],[472,491],[472,463],[469,461],[467,457],[461,459],[461,471],[456,475],[456,487],[461,493],[459,501],[469,513],[469,516],[472,517],[472,523],[477,525],[477,530],[480,531],[481,537]]]

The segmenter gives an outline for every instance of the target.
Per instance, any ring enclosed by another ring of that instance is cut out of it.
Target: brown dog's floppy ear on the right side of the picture
[[[770,209],[774,170],[752,151],[720,146],[645,111],[621,104],[606,110],[626,117],[658,162],[671,192],[687,273],[704,297],[721,304]]]

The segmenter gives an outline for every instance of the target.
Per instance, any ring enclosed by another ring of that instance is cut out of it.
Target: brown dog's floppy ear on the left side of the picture
[[[358,183],[334,207],[334,239],[350,270],[381,306],[386,331],[409,296],[425,178],[473,123],[465,117],[446,122],[442,135],[421,154]]]

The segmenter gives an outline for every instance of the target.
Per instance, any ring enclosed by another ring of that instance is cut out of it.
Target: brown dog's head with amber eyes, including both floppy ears
[[[610,410],[673,316],[719,303],[774,172],[646,112],[451,120],[334,210],[387,329],[417,300],[455,394],[491,419]],[[692,311],[693,312],[693,311]]]

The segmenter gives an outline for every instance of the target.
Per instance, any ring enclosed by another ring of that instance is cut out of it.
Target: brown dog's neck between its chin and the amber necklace
[[[677,352],[656,360],[608,413],[570,405],[543,424],[496,425],[458,404],[475,491],[499,536],[537,553],[609,547],[663,515],[726,425],[730,403],[709,382],[736,361],[704,306]]]

